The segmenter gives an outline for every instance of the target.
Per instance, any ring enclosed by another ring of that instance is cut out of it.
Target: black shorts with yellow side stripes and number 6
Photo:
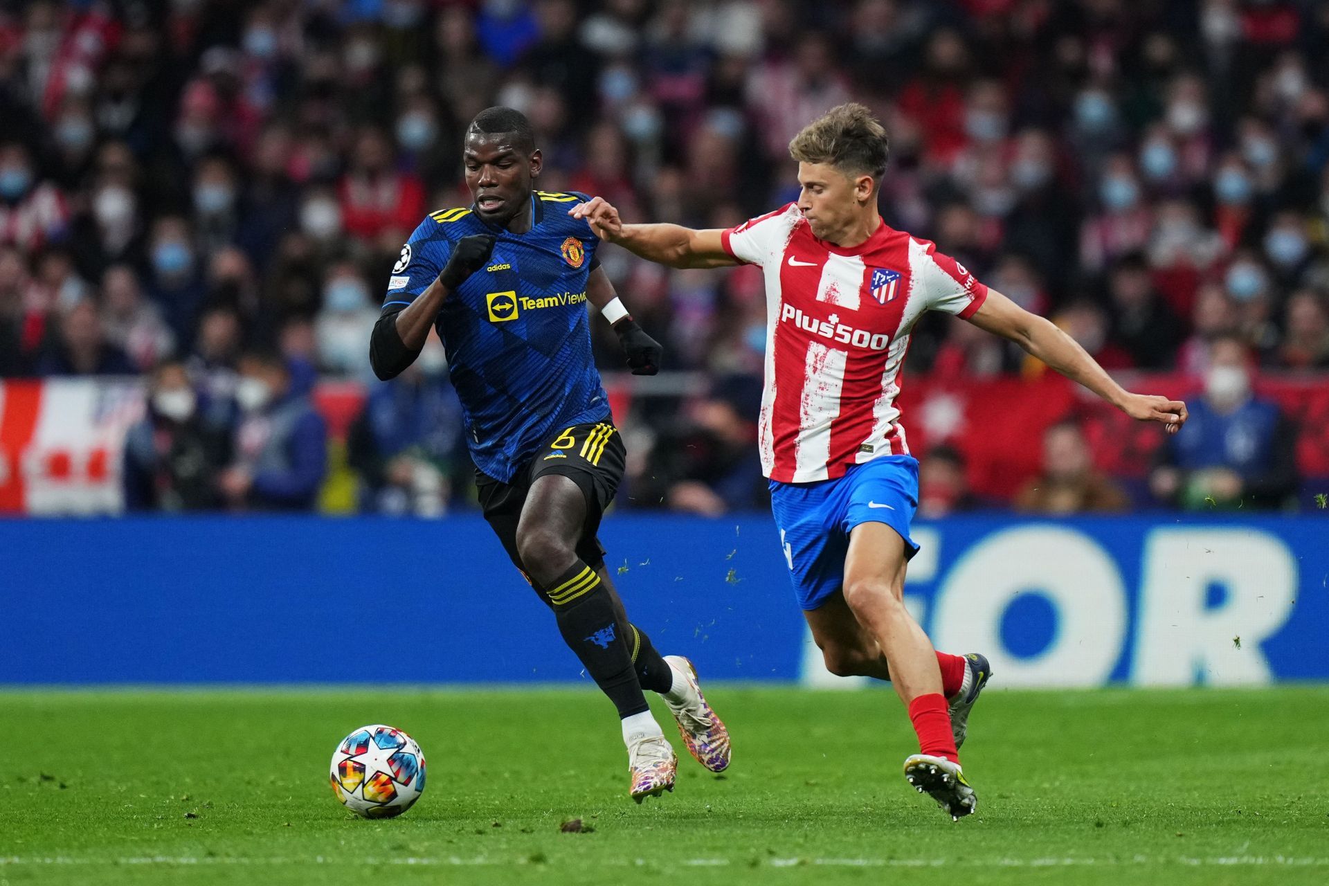
[[[538,477],[562,474],[575,482],[586,495],[586,526],[577,543],[577,557],[591,569],[605,562],[605,549],[595,538],[605,509],[614,501],[623,480],[627,449],[623,436],[609,421],[573,425],[546,440],[534,458],[522,465],[512,482],[501,482],[477,470],[476,491],[485,519],[502,542],[508,557],[522,569],[517,555],[517,523],[526,503],[526,493]],[[525,570],[522,570],[525,574]],[[528,580],[530,576],[526,576]]]

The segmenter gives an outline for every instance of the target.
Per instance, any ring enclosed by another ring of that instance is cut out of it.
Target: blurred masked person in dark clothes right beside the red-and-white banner
[[[125,437],[125,510],[217,507],[217,476],[230,458],[229,449],[227,429],[201,416],[185,364],[159,363],[148,388],[146,414]]]

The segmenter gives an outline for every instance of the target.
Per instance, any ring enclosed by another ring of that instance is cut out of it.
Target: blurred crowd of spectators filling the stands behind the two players
[[[368,383],[401,243],[428,210],[469,203],[474,113],[530,117],[545,190],[720,227],[793,199],[789,137],[849,98],[890,133],[889,224],[1110,369],[1196,379],[1156,502],[1280,505],[1290,430],[1252,379],[1329,368],[1314,0],[0,3],[0,376],[149,376],[133,506],[311,507],[328,472],[311,389]],[[619,417],[635,446],[623,505],[762,505],[760,274],[601,258],[666,369],[712,380]],[[621,368],[595,327],[602,368]],[[942,317],[908,365],[1042,371]],[[343,453],[358,505],[465,506],[441,348],[365,392]],[[1015,507],[1130,506],[1074,422],[1049,429],[1045,460]],[[925,513],[1006,503],[974,501],[964,477],[936,446]]]

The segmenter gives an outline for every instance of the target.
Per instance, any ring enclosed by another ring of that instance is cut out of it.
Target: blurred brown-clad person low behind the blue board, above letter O
[[[1043,432],[1043,472],[1015,495],[1015,510],[1035,514],[1115,513],[1130,503],[1122,487],[1094,468],[1076,421],[1059,421]]]

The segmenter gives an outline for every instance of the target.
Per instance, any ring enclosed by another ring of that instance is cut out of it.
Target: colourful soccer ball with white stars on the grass
[[[424,793],[424,754],[401,729],[360,727],[332,753],[332,793],[361,818],[400,816]]]

